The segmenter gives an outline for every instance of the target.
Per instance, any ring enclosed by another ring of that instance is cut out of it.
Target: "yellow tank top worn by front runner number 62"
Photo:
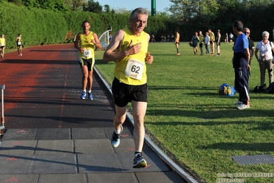
[[[124,39],[117,47],[117,52],[126,50],[131,40],[133,45],[141,43],[141,51],[138,54],[126,56],[116,61],[114,76],[127,85],[144,85],[147,82],[146,54],[148,52],[148,36],[144,31],[141,32],[140,36],[135,36],[128,28],[125,28]]]

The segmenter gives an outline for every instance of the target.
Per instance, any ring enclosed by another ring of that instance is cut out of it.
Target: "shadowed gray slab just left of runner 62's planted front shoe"
[[[100,153],[100,154],[79,154],[78,169],[79,173],[105,173],[105,172],[122,172],[123,169],[117,154]]]

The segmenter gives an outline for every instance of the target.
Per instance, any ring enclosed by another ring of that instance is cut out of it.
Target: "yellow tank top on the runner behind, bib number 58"
[[[84,52],[79,52],[80,58],[93,58],[94,60],[94,44],[91,42],[91,39],[94,39],[93,32],[89,32],[88,36],[85,36],[84,33],[80,34],[79,45],[80,48],[84,49]]]

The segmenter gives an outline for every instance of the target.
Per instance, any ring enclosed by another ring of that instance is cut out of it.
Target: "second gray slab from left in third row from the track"
[[[76,155],[35,155],[32,173],[77,173]]]

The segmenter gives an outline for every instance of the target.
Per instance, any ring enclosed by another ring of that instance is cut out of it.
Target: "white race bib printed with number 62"
[[[141,75],[143,74],[144,63],[141,61],[134,60],[130,58],[128,60],[128,65],[126,65],[125,75],[130,78],[135,78],[137,80],[141,79]]]

